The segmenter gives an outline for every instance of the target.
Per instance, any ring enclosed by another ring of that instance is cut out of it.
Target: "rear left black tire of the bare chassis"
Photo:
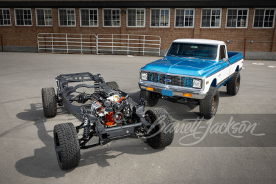
[[[54,88],[42,88],[43,113],[46,118],[57,116],[57,96]]]

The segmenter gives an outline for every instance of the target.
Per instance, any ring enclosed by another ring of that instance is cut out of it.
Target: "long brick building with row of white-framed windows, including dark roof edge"
[[[276,59],[275,14],[275,0],[0,0],[0,41],[3,51],[37,52],[39,33],[158,35],[161,54],[172,40],[195,38]]]

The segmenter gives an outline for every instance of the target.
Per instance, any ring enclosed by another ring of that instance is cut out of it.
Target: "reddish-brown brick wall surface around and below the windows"
[[[121,10],[126,10],[121,8]],[[243,51],[244,39],[246,39],[246,51],[276,52],[275,28],[253,28],[254,8],[249,9],[248,28],[226,28],[226,8],[222,8],[221,28],[200,28],[201,8],[195,8],[194,28],[175,28],[175,8],[170,8],[170,28],[150,28],[150,8],[146,8],[146,27],[128,28],[126,26],[126,14],[121,14],[120,28],[103,27],[102,9],[99,8],[99,27],[80,27],[79,8],[75,8],[76,26],[59,27],[57,8],[52,8],[53,25],[37,26],[35,9],[32,8],[32,26],[15,26],[14,9],[10,8],[11,26],[0,26],[0,34],[3,35],[4,46],[37,47],[38,33],[113,33],[113,34],[145,34],[159,35],[161,37],[161,50],[167,50],[172,40],[175,39],[215,39],[230,42],[228,50]],[[254,43],[249,41],[253,40]],[[268,41],[268,42],[257,42]]]

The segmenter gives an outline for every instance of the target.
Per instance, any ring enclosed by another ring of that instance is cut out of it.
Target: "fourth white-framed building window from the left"
[[[75,26],[75,9],[59,9],[59,25]]]

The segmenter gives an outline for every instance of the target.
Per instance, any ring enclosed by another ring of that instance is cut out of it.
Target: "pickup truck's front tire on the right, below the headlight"
[[[210,119],[215,116],[219,106],[219,90],[215,87],[210,87],[205,99],[199,102],[199,112],[201,116]]]

